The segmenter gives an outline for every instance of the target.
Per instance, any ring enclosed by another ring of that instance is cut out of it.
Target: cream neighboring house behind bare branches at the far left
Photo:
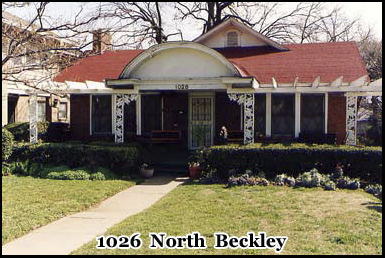
[[[18,35],[22,28],[27,26],[27,22],[20,19],[10,13],[2,12],[2,28],[8,30],[9,34]],[[46,34],[44,36],[36,36],[43,38],[42,42],[51,45],[64,45],[69,44],[62,39],[58,39],[55,35]],[[7,55],[8,40],[3,33],[2,38],[2,56],[3,59]],[[31,46],[29,46],[31,47]],[[31,57],[23,56],[20,58],[12,58],[8,63],[3,66],[2,76],[2,126],[14,123],[14,122],[28,122],[29,121],[29,93],[31,87],[27,86],[23,82],[13,82],[7,79],[5,75],[8,70],[19,69],[21,72],[16,73],[13,77],[16,77],[20,81],[36,82],[41,81],[42,84],[52,83],[52,74],[57,73],[60,69],[59,66],[47,71],[44,69],[30,69],[33,67],[37,60]],[[12,77],[12,79],[13,79]],[[10,76],[8,76],[10,78]],[[49,88],[48,88],[49,91]],[[60,97],[52,95],[47,92],[41,92],[37,99],[37,113],[38,121],[49,122],[69,122],[70,114],[70,102],[69,95],[67,97]]]

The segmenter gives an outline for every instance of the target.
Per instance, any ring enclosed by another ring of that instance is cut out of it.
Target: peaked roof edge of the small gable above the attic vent
[[[257,40],[264,42],[266,45],[271,46],[277,50],[285,51],[288,50],[284,45],[278,44],[277,42],[267,38],[266,36],[262,35],[261,33],[249,28],[245,24],[239,22],[235,18],[229,18],[222,23],[218,24],[205,34],[199,36],[198,38],[194,39],[193,42],[202,43],[204,40],[206,40],[209,37],[214,36],[217,33],[220,33],[222,30],[224,30],[226,27],[231,26],[239,29],[240,31],[246,31],[249,35],[255,37]]]

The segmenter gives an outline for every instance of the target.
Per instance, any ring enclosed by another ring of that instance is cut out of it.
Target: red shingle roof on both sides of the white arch
[[[290,51],[276,52],[264,47],[216,49],[241,70],[243,76],[254,76],[260,83],[313,82],[317,76],[321,82],[332,82],[343,76],[351,82],[367,75],[365,65],[354,42],[330,42],[311,44],[286,44]],[[85,80],[102,82],[116,79],[124,67],[143,50],[107,51],[87,57],[64,69],[57,82]]]

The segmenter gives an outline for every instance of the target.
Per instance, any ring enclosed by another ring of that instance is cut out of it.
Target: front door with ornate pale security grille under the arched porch
[[[191,95],[189,98],[189,149],[213,145],[213,95]]]

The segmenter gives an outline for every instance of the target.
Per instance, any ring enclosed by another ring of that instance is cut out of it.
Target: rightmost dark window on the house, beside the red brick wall
[[[324,133],[324,94],[301,94],[301,133]]]

